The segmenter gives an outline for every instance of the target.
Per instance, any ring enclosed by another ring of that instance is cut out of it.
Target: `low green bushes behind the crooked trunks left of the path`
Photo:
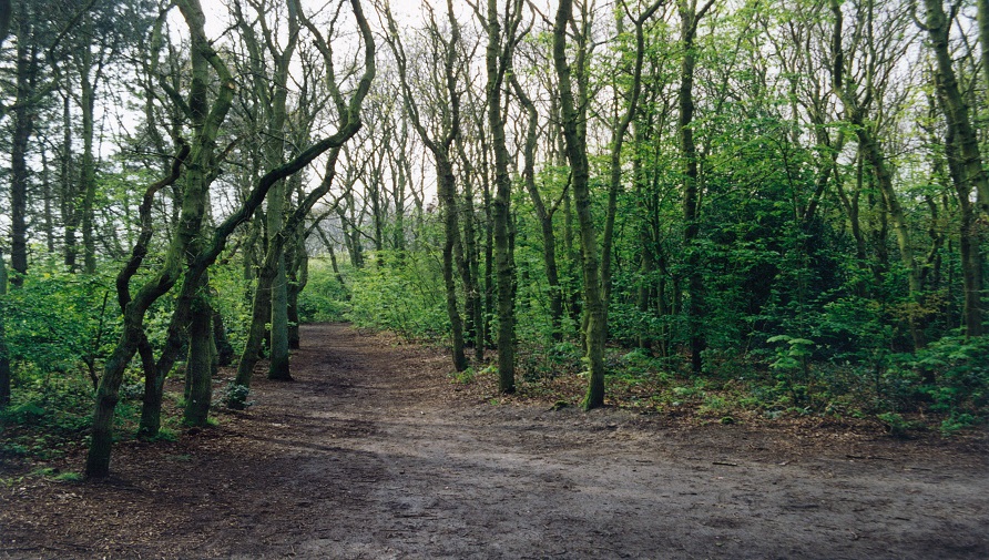
[[[108,263],[103,274],[72,274],[53,258],[41,258],[22,286],[0,297],[13,370],[11,404],[0,410],[4,454],[57,458],[89,434],[94,385],[119,338],[121,313],[110,276],[119,266]],[[232,266],[217,266],[211,277],[216,288],[211,302],[237,345],[247,325],[246,286]],[[172,303],[162,298],[147,315],[153,346],[164,340]],[[118,434],[128,434],[136,421],[143,393],[143,373],[135,363],[120,388]],[[160,438],[175,435],[165,428]]]

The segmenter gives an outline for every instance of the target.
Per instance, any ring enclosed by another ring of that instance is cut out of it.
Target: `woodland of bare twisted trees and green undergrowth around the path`
[[[981,2],[206,8],[0,1],[0,407],[91,426],[88,475],[119,403],[247,406],[305,319],[588,408],[985,417]]]

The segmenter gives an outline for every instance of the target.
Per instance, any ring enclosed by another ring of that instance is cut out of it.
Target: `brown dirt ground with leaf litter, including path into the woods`
[[[305,326],[294,383],[106,481],[0,472],[0,558],[989,558],[985,431],[554,410],[448,364]]]

